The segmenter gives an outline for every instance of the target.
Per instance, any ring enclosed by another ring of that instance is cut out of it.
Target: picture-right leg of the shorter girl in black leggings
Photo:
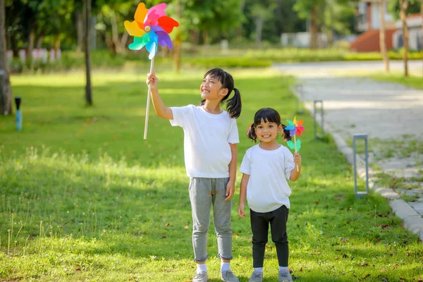
[[[274,241],[276,246],[279,266],[288,267],[289,247],[286,221],[288,221],[289,209],[282,206],[271,212],[271,214],[271,240]]]

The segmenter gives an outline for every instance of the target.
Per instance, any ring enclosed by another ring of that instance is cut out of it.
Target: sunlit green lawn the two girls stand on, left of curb
[[[168,106],[200,102],[207,70],[157,70]],[[23,97],[23,131],[0,117],[0,278],[2,281],[190,281],[192,219],[183,166],[183,130],[150,109],[143,140],[146,70],[93,73],[94,106],[85,107],[84,75],[14,76]],[[257,109],[295,116],[290,78],[270,69],[232,70],[243,95],[238,164]],[[353,171],[332,142],[314,140],[304,119],[302,175],[291,183],[290,268],[297,281],[419,281],[423,247],[388,202],[354,197]],[[307,133],[308,132],[308,133]],[[231,267],[252,271],[248,219],[233,200]],[[360,182],[363,186],[363,183]],[[271,239],[269,238],[269,242]],[[214,227],[209,281],[220,281]],[[273,243],[264,281],[277,281]]]

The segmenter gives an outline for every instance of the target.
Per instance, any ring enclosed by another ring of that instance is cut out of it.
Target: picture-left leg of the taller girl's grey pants
[[[210,223],[212,186],[209,178],[190,178],[190,201],[192,210],[192,245],[195,262],[207,260],[207,233]]]

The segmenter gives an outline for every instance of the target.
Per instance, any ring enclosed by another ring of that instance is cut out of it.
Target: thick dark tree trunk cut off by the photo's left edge
[[[5,0],[0,0],[0,114],[12,114],[12,90],[6,54]]]

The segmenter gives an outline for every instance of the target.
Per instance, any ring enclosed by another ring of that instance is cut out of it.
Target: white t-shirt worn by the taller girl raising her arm
[[[185,168],[189,177],[229,177],[229,143],[239,143],[235,118],[227,111],[209,114],[202,106],[171,107],[172,126],[183,128]]]

